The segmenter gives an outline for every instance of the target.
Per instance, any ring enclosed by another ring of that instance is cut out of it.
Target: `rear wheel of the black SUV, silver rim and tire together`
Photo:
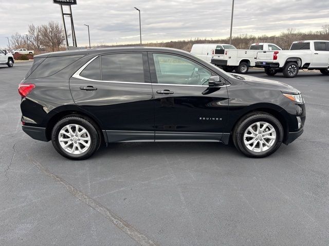
[[[62,156],[82,160],[92,156],[100,146],[100,133],[92,121],[86,118],[68,116],[52,129],[53,147]]]

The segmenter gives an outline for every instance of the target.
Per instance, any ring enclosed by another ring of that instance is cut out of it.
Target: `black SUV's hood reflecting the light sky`
[[[250,75],[245,74],[232,74],[234,77],[238,76],[241,78],[244,78],[243,81],[251,86],[261,86],[261,87],[267,87],[272,89],[278,89],[285,93],[290,94],[300,94],[300,91],[295,89],[292,86],[289,86],[287,84],[284,84],[282,82],[276,81],[276,80],[270,80],[265,78],[258,78]]]

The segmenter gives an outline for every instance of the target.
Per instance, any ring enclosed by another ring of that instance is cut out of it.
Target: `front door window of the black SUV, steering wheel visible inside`
[[[158,84],[208,85],[211,72],[193,61],[168,54],[153,54]]]

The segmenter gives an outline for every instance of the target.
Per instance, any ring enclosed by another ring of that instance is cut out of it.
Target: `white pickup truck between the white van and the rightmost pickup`
[[[275,44],[256,43],[249,50],[225,49],[214,54],[211,63],[222,67],[225,71],[246,74],[250,67],[255,67],[257,53],[260,50],[281,50]]]

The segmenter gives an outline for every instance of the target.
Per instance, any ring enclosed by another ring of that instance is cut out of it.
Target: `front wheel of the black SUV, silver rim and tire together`
[[[277,151],[283,135],[283,127],[276,117],[254,112],[236,124],[232,139],[236,149],[246,156],[261,158]]]

